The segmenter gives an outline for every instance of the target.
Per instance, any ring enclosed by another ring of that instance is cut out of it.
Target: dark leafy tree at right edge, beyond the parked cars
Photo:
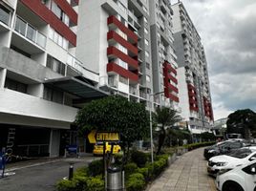
[[[237,110],[227,117],[226,132],[242,134],[244,138],[249,138],[256,133],[256,113],[250,109]]]

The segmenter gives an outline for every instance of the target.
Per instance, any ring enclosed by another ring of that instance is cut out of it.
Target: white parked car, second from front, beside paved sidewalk
[[[240,148],[228,155],[209,159],[207,171],[210,175],[216,176],[219,171],[228,171],[254,159],[256,159],[256,146]]]

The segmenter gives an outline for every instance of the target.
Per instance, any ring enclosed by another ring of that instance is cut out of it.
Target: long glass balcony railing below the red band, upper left
[[[16,22],[14,30],[19,32],[38,46],[45,48],[46,46],[46,36],[41,32],[35,30],[32,25],[21,19],[19,16],[16,16]]]

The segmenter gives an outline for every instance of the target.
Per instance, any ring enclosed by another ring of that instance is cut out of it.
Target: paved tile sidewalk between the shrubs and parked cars
[[[203,148],[183,154],[155,180],[148,191],[216,191],[207,175]]]

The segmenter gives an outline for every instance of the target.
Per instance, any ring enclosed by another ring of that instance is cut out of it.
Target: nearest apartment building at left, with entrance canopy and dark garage
[[[75,58],[76,0],[0,2],[0,148],[19,156],[64,154],[77,108],[107,96]]]

